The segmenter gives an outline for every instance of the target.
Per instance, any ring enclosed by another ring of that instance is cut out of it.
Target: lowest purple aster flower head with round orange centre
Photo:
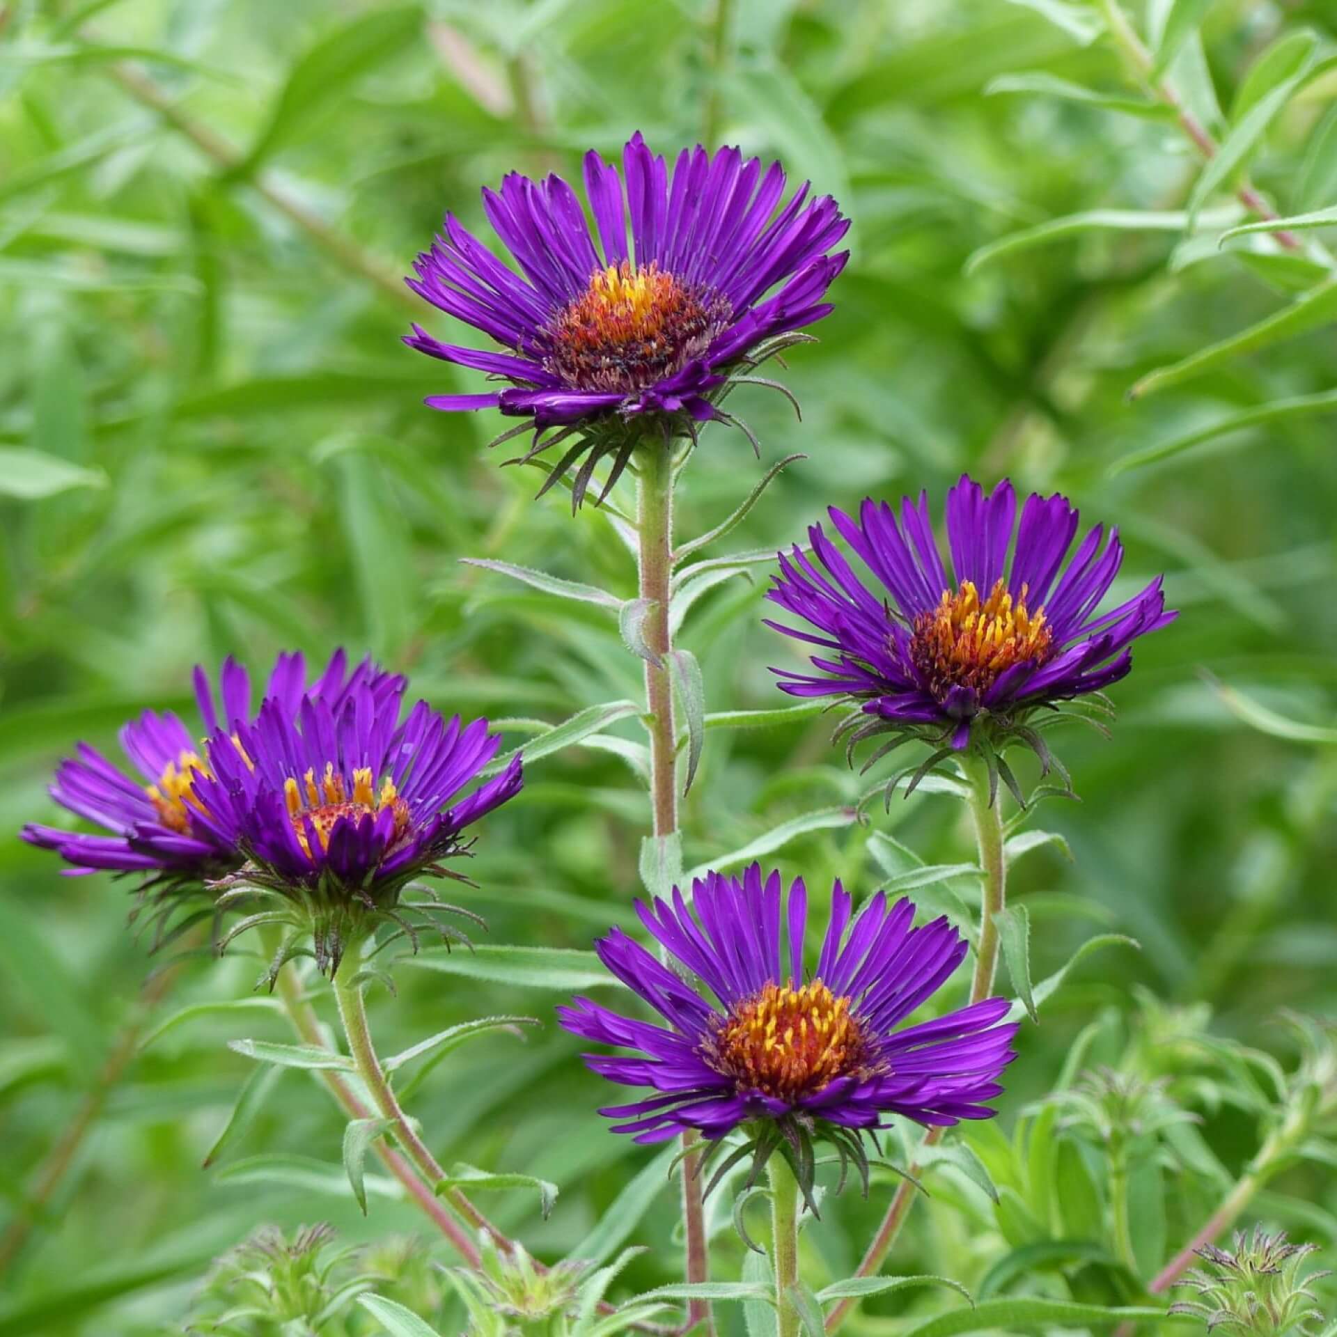
[[[837,882],[817,968],[808,973],[802,878],[786,898],[779,873],[753,864],[741,878],[707,873],[693,882],[691,900],[695,915],[674,888],[671,904],[638,901],[636,912],[701,985],[620,929],[595,944],[662,1023],[586,997],[558,1009],[575,1035],[638,1051],[586,1055],[608,1080],[656,1092],[600,1110],[619,1120],[615,1132],[662,1142],[695,1128],[718,1142],[743,1127],[747,1144],[726,1165],[750,1147],[755,1175],[778,1147],[810,1191],[814,1136],[833,1142],[842,1163],[849,1155],[866,1170],[860,1138],[893,1115],[928,1126],[993,1115],[984,1102],[1003,1090],[999,1076],[1015,1056],[1016,1025],[999,1024],[1007,1000],[901,1027],[965,957],[965,941],[945,919],[913,928],[915,906],[888,905],[878,892],[852,924],[850,897]]]

